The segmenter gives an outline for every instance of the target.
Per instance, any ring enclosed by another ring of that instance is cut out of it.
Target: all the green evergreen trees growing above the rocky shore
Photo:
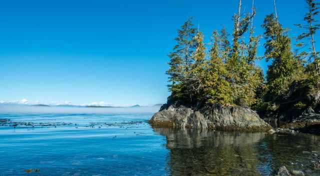
[[[304,20],[307,24],[298,25],[306,31],[297,38],[310,37],[311,51],[294,55],[287,29],[273,14],[265,17],[261,25],[265,30],[264,58],[271,61],[266,80],[261,68],[255,65],[262,57],[257,56],[260,36],[254,35],[254,9],[251,14],[233,15],[231,40],[224,28],[220,32],[214,30],[208,49],[203,34],[193,27],[189,18],[178,30],[177,43],[168,55],[166,73],[171,91],[168,102],[197,106],[236,104],[263,113],[278,113],[279,109],[287,108],[302,111],[312,106],[312,96],[320,91],[320,58],[312,37],[318,29],[315,20],[318,3],[306,2],[309,11]],[[297,45],[303,46],[302,43]],[[305,55],[312,57],[313,62],[306,64]]]

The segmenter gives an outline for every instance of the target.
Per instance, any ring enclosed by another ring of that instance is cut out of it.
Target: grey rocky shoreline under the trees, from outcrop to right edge
[[[253,110],[242,106],[203,106],[195,108],[176,103],[164,104],[152,116],[153,127],[218,129],[228,131],[269,131],[269,133],[320,134],[320,114],[312,108],[276,128]]]

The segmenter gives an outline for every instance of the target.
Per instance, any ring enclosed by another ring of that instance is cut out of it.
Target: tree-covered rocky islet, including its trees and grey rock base
[[[149,123],[155,127],[271,132],[272,127],[281,127],[319,134],[320,57],[313,37],[319,29],[317,5],[307,1],[305,23],[297,24],[303,31],[294,36],[294,47],[276,9],[266,15],[261,25],[262,56],[257,54],[261,36],[254,32],[254,6],[242,15],[240,0],[238,12],[232,16],[232,37],[226,28],[213,30],[209,43],[192,18],[187,19],[168,54],[171,95]],[[262,58],[270,62],[266,75],[255,63]]]

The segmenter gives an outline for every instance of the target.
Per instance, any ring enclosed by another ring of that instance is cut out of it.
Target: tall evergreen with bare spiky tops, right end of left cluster
[[[250,37],[248,43],[240,39],[248,31],[250,23],[252,24],[255,11],[241,17],[241,0],[239,1],[238,13],[233,15],[233,43],[230,57],[226,59],[226,68],[228,70],[228,81],[232,87],[233,103],[238,105],[250,106],[256,101],[255,92],[258,82],[262,82],[261,71],[254,65],[256,59],[256,46],[258,36],[253,36],[253,25],[250,28]]]

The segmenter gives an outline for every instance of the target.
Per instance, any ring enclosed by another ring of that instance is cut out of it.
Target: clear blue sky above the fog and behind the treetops
[[[295,35],[304,0],[277,0]],[[272,0],[255,0],[256,33]],[[243,0],[249,11],[251,0]],[[237,0],[6,0],[0,5],[0,100],[163,103],[176,29],[193,16],[206,40]],[[263,52],[260,43],[259,54]],[[258,64],[266,69],[266,63]]]

